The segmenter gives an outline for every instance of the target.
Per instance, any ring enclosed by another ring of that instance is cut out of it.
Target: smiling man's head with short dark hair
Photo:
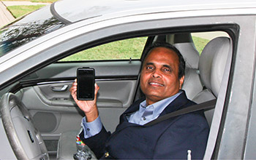
[[[149,53],[140,78],[147,105],[178,93],[184,81],[184,76],[178,79],[178,65],[178,55],[173,50],[157,47]]]

